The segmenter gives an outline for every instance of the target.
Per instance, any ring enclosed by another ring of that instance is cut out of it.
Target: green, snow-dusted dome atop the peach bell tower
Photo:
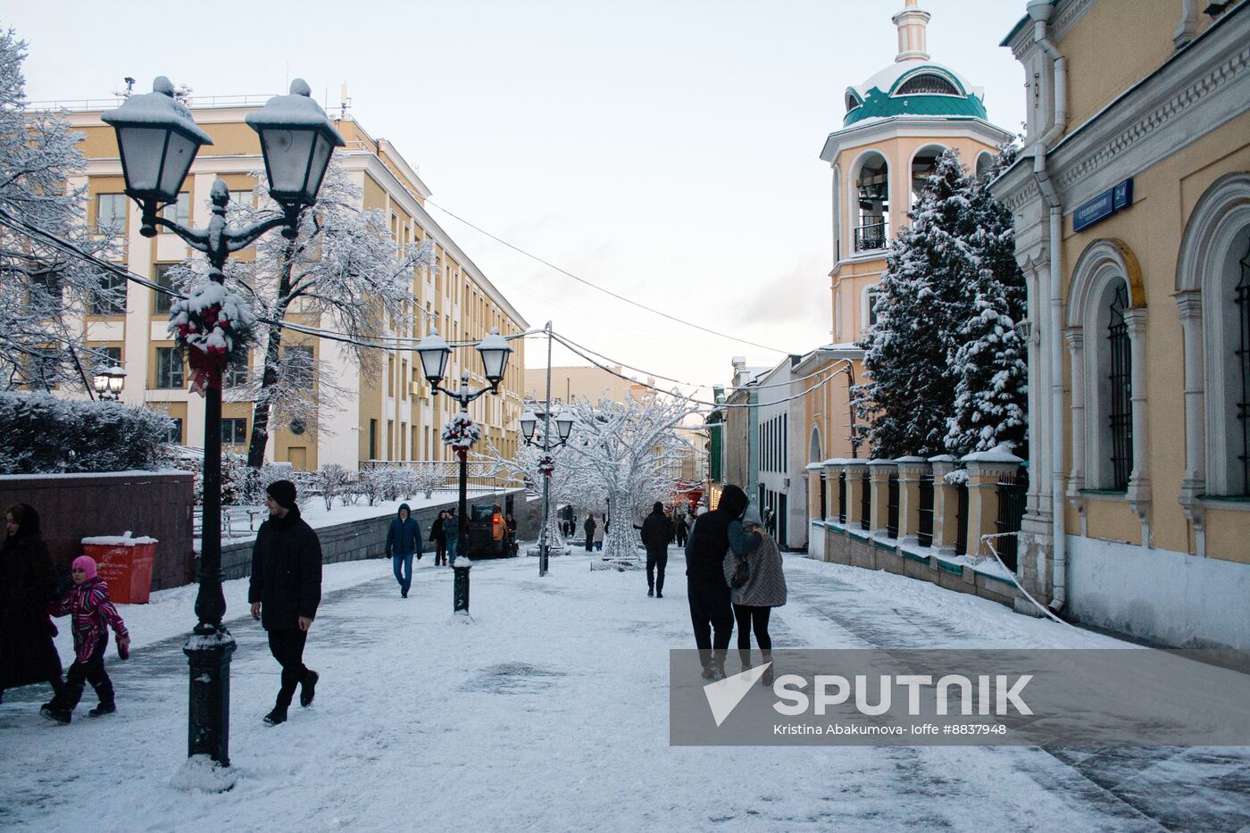
[[[849,111],[842,126],[868,119],[949,116],[988,119],[984,94],[958,73],[939,64],[900,61],[860,86],[846,89]]]

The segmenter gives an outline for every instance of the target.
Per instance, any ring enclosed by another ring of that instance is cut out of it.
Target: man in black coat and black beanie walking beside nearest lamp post
[[[276,480],[265,490],[269,520],[260,525],[251,550],[248,600],[251,618],[269,634],[269,650],[282,667],[281,687],[268,725],[286,720],[286,710],[300,687],[300,705],[312,704],[320,674],[304,664],[309,629],[321,603],[321,542],[300,518],[295,484]]]

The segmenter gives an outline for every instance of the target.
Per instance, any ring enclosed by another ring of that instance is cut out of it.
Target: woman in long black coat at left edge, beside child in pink
[[[56,595],[56,568],[39,529],[39,513],[25,503],[5,512],[0,544],[0,697],[6,688],[49,683],[61,688],[61,658],[48,603]]]

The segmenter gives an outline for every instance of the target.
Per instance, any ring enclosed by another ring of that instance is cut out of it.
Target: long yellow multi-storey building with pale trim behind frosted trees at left
[[[196,123],[212,136],[214,144],[200,150],[184,185],[184,196],[165,209],[166,216],[206,226],[209,189],[218,178],[231,189],[231,199],[252,199],[264,161],[256,133],[244,119],[259,109],[264,99],[226,101],[220,106],[215,101],[189,103]],[[65,115],[74,129],[81,131],[80,149],[88,160],[84,175],[75,184],[88,190],[89,224],[108,219],[124,229],[121,265],[135,275],[160,283],[164,268],[194,253],[174,234],[162,231],[150,239],[139,234],[139,209],[124,195],[114,130],[100,121],[100,113],[110,106],[115,103],[99,108],[89,104]],[[436,326],[448,341],[470,343],[481,339],[491,328],[504,335],[525,331],[528,324],[520,313],[425,210],[430,190],[395,146],[385,139],[374,139],[346,113],[335,120],[335,126],[348,143],[335,151],[335,163],[361,190],[360,208],[380,211],[396,243],[429,241],[434,253],[431,266],[412,273],[411,291],[418,305],[412,329],[399,331],[398,324],[389,321],[391,329],[386,335],[415,340]],[[254,253],[249,249],[236,256],[254,256]],[[186,368],[174,354],[174,343],[166,334],[166,299],[141,284],[130,283],[124,309],[92,310],[99,314],[88,315],[82,325],[90,345],[111,348],[111,356],[126,369],[122,400],[168,411],[178,424],[171,439],[198,447],[202,443],[204,409],[200,399],[188,393]],[[332,329],[328,320],[298,311],[289,314],[288,320]],[[514,353],[499,395],[481,396],[469,406],[485,438],[505,455],[516,450],[525,368],[525,339],[512,339],[510,344]],[[279,424],[271,418],[269,460],[289,462],[300,470],[331,463],[355,470],[370,462],[452,459],[440,440],[440,432],[459,405],[448,396],[430,395],[414,350],[388,350],[381,356],[380,371],[365,374],[330,339],[288,330],[282,346],[310,350],[319,361],[320,373],[332,376],[342,398],[340,409],[320,414],[320,423],[328,429],[320,433],[315,425]],[[251,350],[254,366],[261,350],[262,345],[254,345]],[[452,351],[446,383],[454,384],[461,370],[469,371],[471,385],[486,384],[471,348]],[[318,384],[316,378],[310,384]],[[228,391],[222,406],[224,448],[246,453],[252,405],[229,399]]]

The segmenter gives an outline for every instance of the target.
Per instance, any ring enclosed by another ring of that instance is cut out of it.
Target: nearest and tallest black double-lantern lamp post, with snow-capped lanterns
[[[274,96],[248,115],[248,124],[260,135],[260,148],[269,175],[269,193],[280,213],[245,228],[226,225],[229,189],[221,179],[212,183],[212,218],[208,229],[192,229],[158,210],[178,200],[191,163],[201,145],[212,138],[196,126],[191,111],[174,96],[174,85],[164,75],[152,91],[131,95],[116,110],[100,115],[118,134],[126,195],[142,211],[140,234],[156,235],[156,226],[169,229],[209,261],[209,279],[224,284],[226,259],[255,243],[271,229],[282,236],[296,235],[300,213],[316,203],[330,154],[341,148],[342,136],[321,108],[311,89],[295,79],[289,95]],[[208,754],[221,767],[230,765],[230,657],[234,637],[221,624],[226,612],[221,592],[221,370],[206,365],[200,388],[204,393],[204,509],[200,547],[200,584],[195,599],[199,624],[182,652],[189,658],[191,688],[188,719],[188,755]]]

